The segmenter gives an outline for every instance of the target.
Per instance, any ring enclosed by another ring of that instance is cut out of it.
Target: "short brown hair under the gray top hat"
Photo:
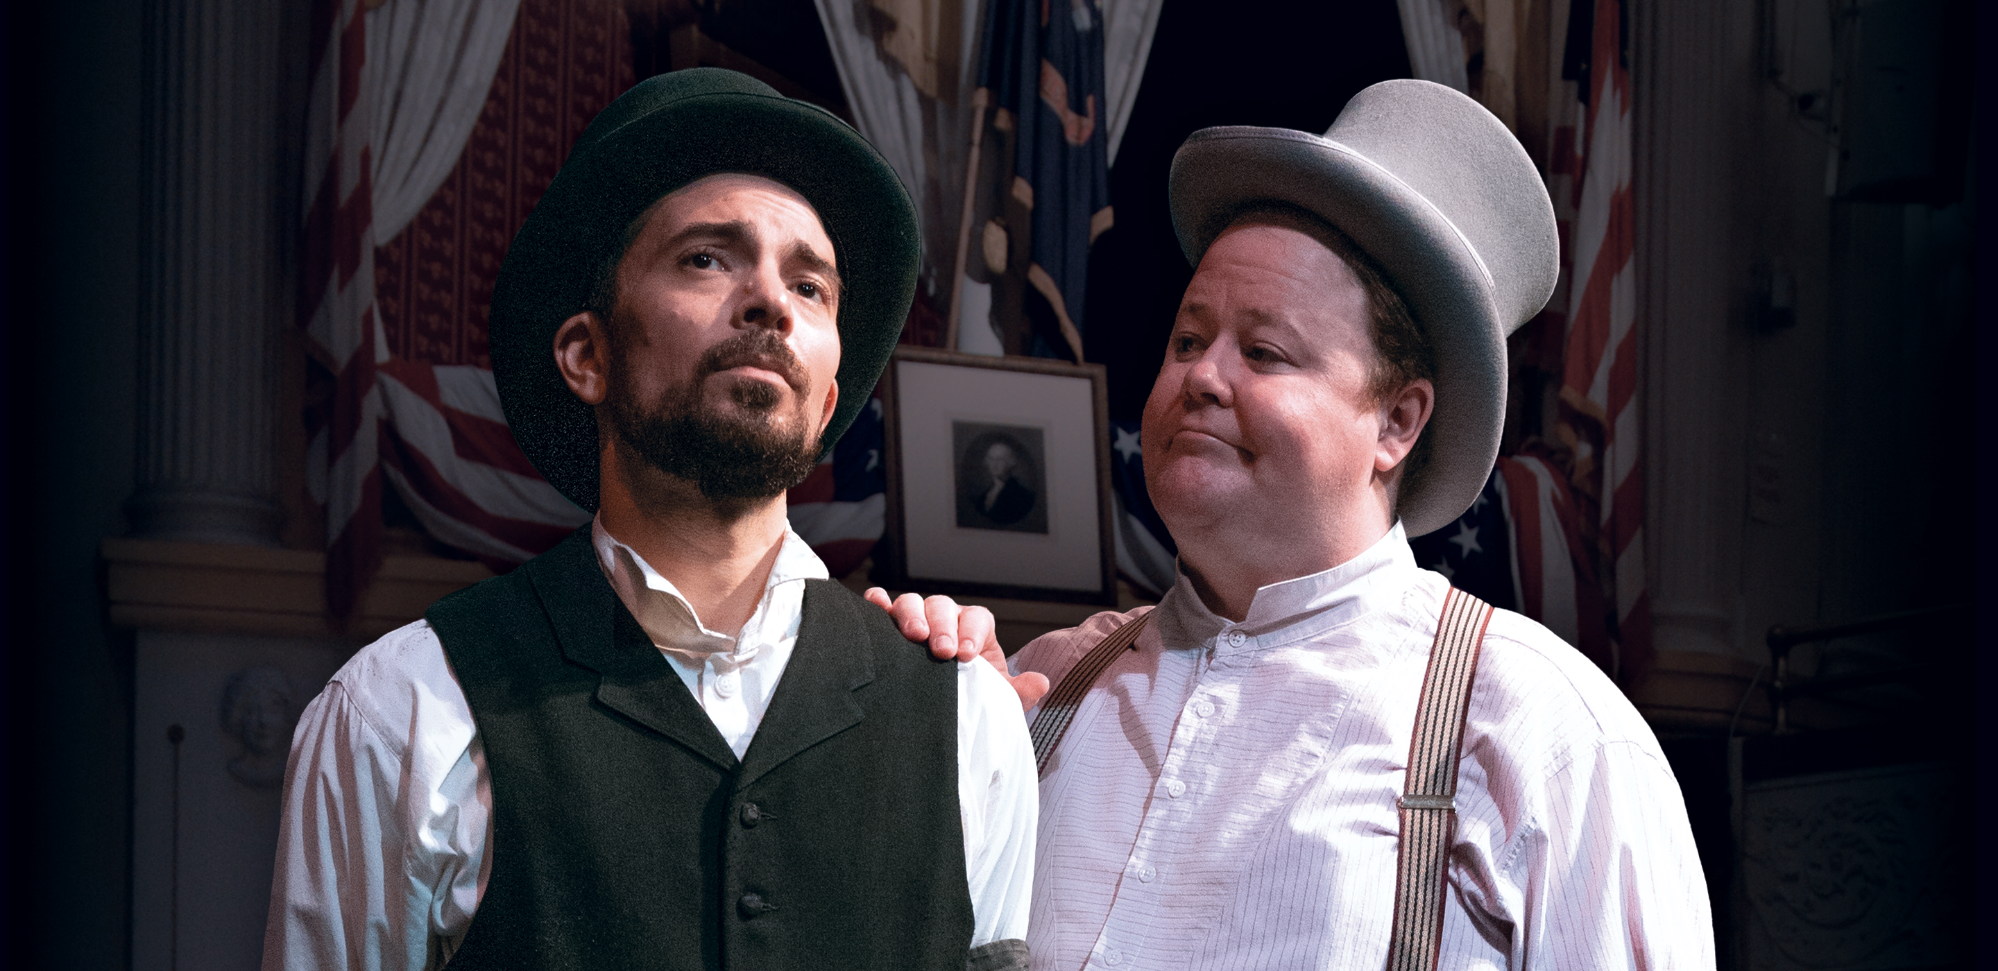
[[[1387,402],[1407,388],[1409,382],[1437,380],[1437,352],[1429,344],[1429,332],[1409,314],[1409,304],[1401,300],[1401,294],[1387,284],[1381,266],[1351,236],[1303,206],[1275,200],[1251,202],[1235,210],[1229,214],[1225,226],[1239,226],[1243,222],[1275,222],[1303,230],[1331,250],[1359,278],[1361,292],[1367,294],[1367,332],[1375,346],[1373,374],[1367,380],[1367,390],[1375,402]],[[1429,428],[1423,428],[1423,436],[1415,440],[1409,458],[1401,462],[1397,491],[1409,487],[1427,468]]]

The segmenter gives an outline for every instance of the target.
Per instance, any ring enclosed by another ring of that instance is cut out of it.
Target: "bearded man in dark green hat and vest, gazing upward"
[[[759,82],[665,74],[591,122],[507,250],[492,356],[595,519],[306,709],[266,969],[1025,965],[1017,695],[785,519],[917,258],[881,156]]]

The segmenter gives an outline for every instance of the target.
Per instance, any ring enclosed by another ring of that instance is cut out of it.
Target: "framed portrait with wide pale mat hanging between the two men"
[[[877,583],[1117,601],[1101,364],[903,346],[881,404],[887,543]]]

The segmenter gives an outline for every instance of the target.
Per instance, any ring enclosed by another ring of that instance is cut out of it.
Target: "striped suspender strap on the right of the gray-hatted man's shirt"
[[[1443,599],[1423,699],[1415,709],[1415,739],[1409,741],[1409,781],[1401,795],[1389,971],[1431,971],[1443,947],[1445,861],[1457,829],[1457,755],[1465,743],[1471,677],[1491,617],[1489,603],[1461,589],[1453,587]]]

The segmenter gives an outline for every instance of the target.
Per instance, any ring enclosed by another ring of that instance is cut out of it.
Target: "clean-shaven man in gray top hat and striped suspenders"
[[[1385,82],[1323,138],[1193,134],[1171,208],[1197,272],[1141,438],[1179,581],[1013,659],[1055,683],[1033,967],[1712,967],[1650,727],[1409,551],[1479,495],[1554,286],[1518,142]]]

